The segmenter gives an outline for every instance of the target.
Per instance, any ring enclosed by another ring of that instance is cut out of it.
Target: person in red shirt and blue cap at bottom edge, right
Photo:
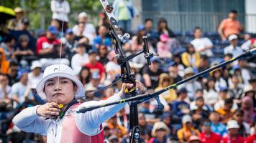
[[[211,122],[205,120],[202,125],[203,131],[200,134],[201,143],[219,143],[221,142],[221,135],[211,132]]]

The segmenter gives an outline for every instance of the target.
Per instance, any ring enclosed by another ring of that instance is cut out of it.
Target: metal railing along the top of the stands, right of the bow
[[[216,12],[143,11],[142,21],[147,18],[154,19],[156,27],[158,19],[163,17],[168,21],[170,29],[185,34],[196,26],[201,26],[204,31],[217,31],[219,24],[227,15]],[[238,20],[244,25],[245,31],[256,31],[256,14],[239,14]]]

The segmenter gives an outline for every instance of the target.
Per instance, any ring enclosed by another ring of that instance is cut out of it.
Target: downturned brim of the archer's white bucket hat
[[[65,78],[68,78],[68,79],[72,80],[73,82],[75,82],[78,87],[77,92],[75,94],[75,99],[78,99],[79,97],[83,97],[83,95],[85,94],[85,89],[83,88],[83,84],[79,81],[79,79],[77,77],[70,75],[70,74],[63,73],[63,72],[57,72],[57,73],[55,72],[55,73],[49,74],[46,77],[42,78],[41,81],[37,84],[37,94],[42,99],[46,99],[46,95],[44,92],[45,82],[48,79],[52,79],[53,77],[65,77]]]

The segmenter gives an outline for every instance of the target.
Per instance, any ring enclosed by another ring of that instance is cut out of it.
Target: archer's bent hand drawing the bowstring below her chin
[[[60,114],[60,109],[55,102],[45,103],[37,108],[37,114],[41,117],[55,119]]]

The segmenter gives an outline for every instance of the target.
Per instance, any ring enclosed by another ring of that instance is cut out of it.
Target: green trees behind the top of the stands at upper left
[[[30,19],[30,29],[40,29],[41,21],[45,17],[45,27],[50,24],[52,11],[51,0],[0,0],[0,5],[14,9],[19,6],[24,8],[25,14]],[[65,0],[70,4],[70,26],[76,23],[79,12],[86,11],[91,15],[91,21],[95,23],[98,11],[102,10],[99,0]]]

